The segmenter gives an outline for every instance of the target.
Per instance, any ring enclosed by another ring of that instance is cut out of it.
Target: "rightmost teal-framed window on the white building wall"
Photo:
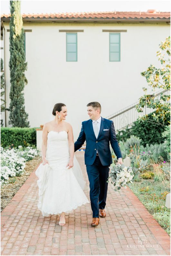
[[[120,33],[109,33],[109,61],[120,61]]]

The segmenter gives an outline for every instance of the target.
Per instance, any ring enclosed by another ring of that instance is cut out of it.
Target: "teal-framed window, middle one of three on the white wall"
[[[77,33],[66,33],[66,61],[77,61]]]

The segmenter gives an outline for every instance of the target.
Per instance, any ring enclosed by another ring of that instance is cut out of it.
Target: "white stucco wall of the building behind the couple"
[[[9,24],[4,23],[5,29]],[[74,140],[81,122],[89,119],[86,105],[99,101],[101,116],[106,117],[136,102],[147,83],[140,72],[150,64],[160,67],[156,56],[159,44],[170,34],[169,25],[160,24],[55,24],[24,23],[26,32],[24,88],[25,109],[31,127],[51,120],[51,109],[58,102],[68,108]],[[59,29],[83,29],[78,32],[78,61],[66,62],[66,33]],[[120,62],[109,62],[109,32],[102,29],[127,29],[120,33]],[[5,32],[6,98],[9,107],[9,32]],[[7,112],[7,123],[8,123]]]

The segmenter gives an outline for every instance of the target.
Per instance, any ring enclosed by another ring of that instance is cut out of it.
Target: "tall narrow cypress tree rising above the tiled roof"
[[[29,127],[28,114],[24,106],[24,85],[27,79],[24,71],[27,69],[24,53],[23,20],[20,13],[21,1],[10,1],[10,115],[9,124],[13,127]]]

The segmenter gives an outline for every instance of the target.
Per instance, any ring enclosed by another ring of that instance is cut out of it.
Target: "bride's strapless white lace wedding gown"
[[[39,178],[37,206],[42,215],[69,213],[83,204],[90,203],[83,192],[85,181],[76,157],[74,167],[66,168],[70,159],[66,131],[48,133],[46,159],[49,164],[40,164],[35,172]]]

